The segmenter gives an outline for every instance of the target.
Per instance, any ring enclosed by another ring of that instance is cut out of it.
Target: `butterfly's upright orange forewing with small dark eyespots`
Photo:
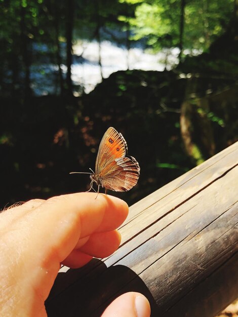
[[[95,174],[104,175],[111,163],[127,154],[127,142],[121,133],[110,127],[102,137],[96,159]]]

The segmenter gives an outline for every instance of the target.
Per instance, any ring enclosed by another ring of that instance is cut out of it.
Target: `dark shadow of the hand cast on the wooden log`
[[[68,287],[64,289],[66,284]],[[56,295],[54,292],[56,289],[59,291],[59,285],[64,285],[64,291]],[[107,268],[102,261],[93,259],[81,269],[69,269],[58,274],[46,302],[48,317],[99,316],[112,300],[126,292],[144,294],[155,315],[156,302],[135,272],[124,265]]]

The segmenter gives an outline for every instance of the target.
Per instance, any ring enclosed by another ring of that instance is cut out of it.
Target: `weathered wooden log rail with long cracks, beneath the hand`
[[[100,316],[127,291],[151,316],[211,317],[238,297],[238,142],[130,208],[121,247],[63,268],[48,316]]]

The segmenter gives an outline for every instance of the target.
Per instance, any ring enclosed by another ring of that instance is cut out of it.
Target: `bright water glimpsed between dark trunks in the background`
[[[124,47],[118,47],[111,42],[101,43],[101,68],[99,66],[99,46],[95,42],[80,42],[73,47],[73,64],[71,66],[73,84],[80,87],[74,91],[79,96],[82,91],[90,93],[103,78],[107,78],[115,71],[126,69],[157,70],[171,69],[178,63],[178,49],[162,51],[157,54],[149,54],[142,48],[131,48],[129,51]],[[67,67],[61,65],[66,74]],[[57,78],[58,66],[41,65],[41,73],[34,68],[32,71],[32,89],[36,95],[56,94],[59,87],[55,88],[54,78],[51,75],[51,85],[46,75],[55,74]]]

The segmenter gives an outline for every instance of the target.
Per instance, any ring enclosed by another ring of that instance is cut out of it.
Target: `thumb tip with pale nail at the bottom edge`
[[[149,317],[150,305],[147,298],[136,292],[117,297],[106,308],[101,317]]]

